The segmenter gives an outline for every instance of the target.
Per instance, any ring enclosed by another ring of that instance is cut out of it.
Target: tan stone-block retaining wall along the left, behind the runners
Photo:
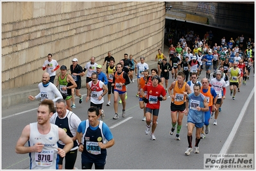
[[[108,51],[153,60],[164,24],[164,2],[3,2],[2,89],[39,83],[48,53],[68,67],[103,63]]]

